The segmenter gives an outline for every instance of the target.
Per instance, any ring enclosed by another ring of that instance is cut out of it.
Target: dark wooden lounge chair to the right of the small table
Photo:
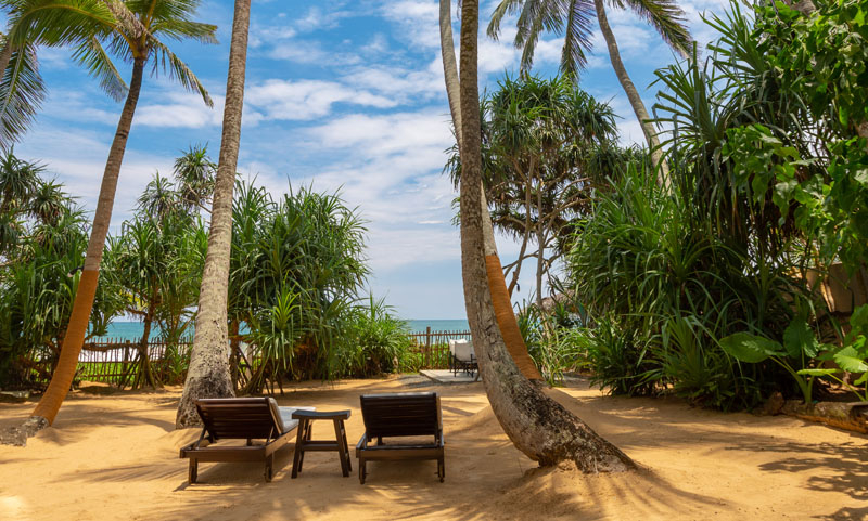
[[[368,476],[366,463],[383,459],[436,459],[437,476],[446,477],[444,461],[443,418],[441,399],[436,392],[362,394],[361,416],[365,434],[356,445],[359,458],[359,482]],[[432,437],[431,443],[394,443],[386,438]],[[373,440],[376,444],[372,444]]]

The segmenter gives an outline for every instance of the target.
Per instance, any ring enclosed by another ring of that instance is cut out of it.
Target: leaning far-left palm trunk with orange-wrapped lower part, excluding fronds
[[[81,272],[78,290],[73,301],[73,312],[69,316],[66,335],[63,338],[61,356],[48,389],[30,415],[28,420],[30,427],[43,428],[54,422],[58,411],[60,411],[61,404],[69,391],[69,386],[73,383],[75,369],[78,365],[78,355],[81,353],[81,347],[85,343],[85,336],[90,323],[93,297],[97,295],[100,263],[105,248],[105,236],[108,234],[108,225],[112,222],[112,208],[115,201],[117,178],[120,174],[120,165],[124,161],[124,152],[127,148],[127,138],[129,138],[129,129],[132,126],[132,116],[136,113],[136,105],[139,103],[139,92],[142,88],[143,76],[144,60],[136,58],[132,63],[132,78],[129,83],[127,101],[120,112],[120,120],[117,122],[115,138],[108,151],[108,160],[105,161],[105,171],[100,186],[100,198],[97,201],[97,212],[93,214],[93,226],[90,231],[87,256],[85,257],[85,269]]]

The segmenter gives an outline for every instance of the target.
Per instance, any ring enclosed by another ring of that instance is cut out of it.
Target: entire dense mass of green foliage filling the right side
[[[842,372],[868,368],[865,308],[844,335],[810,281],[865,270],[868,4],[816,4],[732,3],[707,19],[711,55],[658,71],[674,191],[639,167],[613,180],[570,257],[585,357],[613,392],[731,407],[838,380],[864,398]]]

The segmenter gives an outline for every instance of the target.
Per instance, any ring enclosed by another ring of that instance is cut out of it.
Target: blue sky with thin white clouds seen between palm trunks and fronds
[[[482,1],[487,25],[496,2]],[[217,45],[175,43],[215,100],[213,109],[165,78],[146,78],[129,138],[113,229],[129,218],[153,173],[194,143],[208,143],[216,159],[232,22],[231,0],[203,2],[197,18],[216,24]],[[698,41],[712,32],[703,11],[722,12],[724,0],[681,2]],[[256,177],[273,195],[293,186],[341,190],[368,220],[370,286],[405,318],[462,318],[464,304],[458,230],[450,224],[455,197],[441,174],[451,145],[439,60],[437,0],[254,0],[239,171]],[[674,61],[656,32],[628,12],[610,8],[610,24],[634,82],[650,109],[654,69]],[[515,73],[514,23],[500,41],[481,30],[480,81],[494,87]],[[456,41],[458,24],[456,22]],[[483,27],[484,29],[484,27]],[[610,69],[605,44],[593,36],[582,87],[621,116],[623,143],[641,131]],[[540,41],[535,71],[556,73],[561,39]],[[95,207],[120,104],[76,67],[63,50],[43,50],[49,99],[37,125],[16,145],[20,157],[48,166],[88,209]],[[120,64],[128,77],[128,66]],[[126,69],[125,69],[126,67]],[[503,263],[518,245],[499,240]],[[533,291],[527,266],[518,300]]]

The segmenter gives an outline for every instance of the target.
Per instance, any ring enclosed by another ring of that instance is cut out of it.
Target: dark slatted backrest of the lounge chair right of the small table
[[[362,394],[361,416],[369,439],[437,435],[443,429],[436,392]]]

